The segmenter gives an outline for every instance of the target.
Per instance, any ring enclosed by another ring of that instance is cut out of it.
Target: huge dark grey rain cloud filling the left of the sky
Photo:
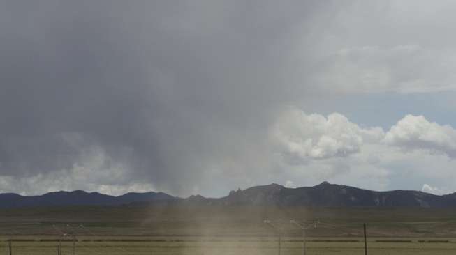
[[[292,49],[319,8],[3,1],[0,174],[82,165],[97,176],[119,163],[119,180],[91,181],[188,192],[206,176],[242,173],[262,157],[274,109],[304,89],[296,77],[305,70],[290,68]],[[105,162],[87,165],[88,148],[102,150]]]

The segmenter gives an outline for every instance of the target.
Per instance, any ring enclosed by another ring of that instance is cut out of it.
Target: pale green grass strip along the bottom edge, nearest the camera
[[[403,239],[401,241],[404,241]],[[376,242],[367,243],[369,254],[390,254],[390,255],[425,255],[425,254],[455,254],[455,240],[450,242],[420,242],[420,240],[409,239],[410,242]],[[13,254],[18,255],[41,255],[57,254],[59,242],[13,242]],[[331,255],[331,254],[364,254],[363,242],[347,242],[342,240],[314,241],[307,242],[307,254],[309,255]],[[202,255],[202,254],[277,254],[277,240],[225,240],[217,238],[214,240],[147,240],[138,241],[84,241],[76,242],[75,254],[175,254],[175,255]],[[1,242],[0,254],[8,254],[8,242]],[[73,243],[62,242],[61,254],[73,254]],[[302,254],[302,242],[298,240],[284,240],[281,242],[281,254]]]

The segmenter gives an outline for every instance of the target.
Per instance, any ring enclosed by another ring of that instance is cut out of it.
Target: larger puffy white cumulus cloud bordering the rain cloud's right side
[[[381,127],[362,128],[342,114],[305,114],[286,111],[272,130],[273,137],[291,161],[347,157],[358,153],[364,142],[379,141]]]

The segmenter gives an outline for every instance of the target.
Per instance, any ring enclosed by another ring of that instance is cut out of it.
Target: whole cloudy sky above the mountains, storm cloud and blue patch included
[[[455,1],[0,3],[0,192],[456,191]]]

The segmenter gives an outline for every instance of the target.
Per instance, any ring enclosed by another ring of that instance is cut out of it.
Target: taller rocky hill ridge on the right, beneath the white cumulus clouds
[[[287,188],[278,184],[232,191],[221,199],[207,203],[225,205],[252,204],[276,206],[405,206],[442,208],[456,207],[456,193],[437,196],[413,190],[376,192],[357,187],[323,182],[314,187]]]

